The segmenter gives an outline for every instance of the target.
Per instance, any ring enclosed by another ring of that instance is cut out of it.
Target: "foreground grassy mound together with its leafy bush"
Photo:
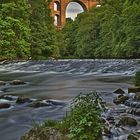
[[[102,140],[102,109],[97,93],[80,94],[62,121],[37,125],[21,140]]]

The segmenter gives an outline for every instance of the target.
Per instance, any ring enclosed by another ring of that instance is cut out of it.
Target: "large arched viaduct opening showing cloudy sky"
[[[78,14],[86,10],[87,8],[82,2],[70,2],[66,7],[66,18],[74,20]]]

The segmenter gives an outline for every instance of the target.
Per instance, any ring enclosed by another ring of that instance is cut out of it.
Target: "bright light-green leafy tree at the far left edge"
[[[30,56],[29,6],[26,0],[0,4],[0,59]]]

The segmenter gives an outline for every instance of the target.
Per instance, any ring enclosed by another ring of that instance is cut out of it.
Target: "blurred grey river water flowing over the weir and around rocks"
[[[113,91],[122,88],[127,92],[132,76],[139,69],[138,60],[1,62],[0,80],[6,81],[6,85],[0,86],[0,96],[12,95],[13,100],[0,99],[0,103],[11,104],[8,109],[0,109],[0,140],[19,140],[38,122],[62,119],[70,101],[80,92],[98,91],[108,104],[112,104]],[[10,85],[15,79],[26,84]],[[17,96],[51,103],[33,108],[29,103],[16,104]],[[117,111],[113,113],[118,114]]]

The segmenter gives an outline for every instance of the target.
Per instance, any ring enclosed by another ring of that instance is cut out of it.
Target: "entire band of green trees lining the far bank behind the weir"
[[[0,60],[140,58],[139,7],[139,0],[102,0],[58,31],[49,1],[2,0]]]

